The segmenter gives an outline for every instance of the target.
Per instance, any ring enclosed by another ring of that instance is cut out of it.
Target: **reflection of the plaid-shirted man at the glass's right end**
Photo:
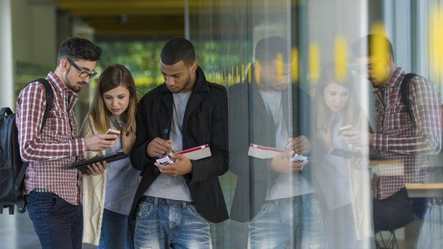
[[[368,50],[362,50],[366,45]],[[395,160],[401,165],[398,172],[390,172],[388,176],[374,175],[372,182],[375,231],[391,231],[412,222],[414,214],[422,218],[425,212],[427,200],[408,199],[405,184],[427,182],[430,178],[428,155],[440,150],[439,91],[424,77],[413,77],[408,84],[411,118],[400,94],[406,74],[393,62],[388,38],[368,35],[354,45],[354,54],[376,89],[376,131],[368,135],[370,148],[383,159]],[[356,144],[356,132],[348,135],[348,142]]]

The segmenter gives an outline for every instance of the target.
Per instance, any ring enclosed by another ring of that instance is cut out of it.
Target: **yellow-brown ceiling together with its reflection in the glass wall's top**
[[[34,0],[38,1],[38,0]],[[41,0],[40,0],[41,1]],[[48,0],[46,0],[48,1]],[[81,18],[103,37],[182,36],[185,33],[186,0],[50,0],[58,4],[74,18]],[[228,18],[236,20],[239,14],[273,12],[285,14],[287,1],[250,0],[187,0],[190,16],[199,13],[199,20]],[[292,0],[292,4],[298,0]],[[221,15],[221,13],[223,13]],[[246,16],[246,15],[245,15]],[[192,19],[192,18],[191,18]],[[221,33],[222,28],[212,22],[212,32]],[[226,27],[224,27],[226,28]],[[203,32],[203,31],[199,31]],[[239,32],[239,31],[237,31]]]

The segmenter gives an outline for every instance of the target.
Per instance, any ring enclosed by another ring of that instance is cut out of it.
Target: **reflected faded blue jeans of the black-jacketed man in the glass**
[[[324,248],[324,222],[309,194],[266,201],[249,223],[251,249]]]

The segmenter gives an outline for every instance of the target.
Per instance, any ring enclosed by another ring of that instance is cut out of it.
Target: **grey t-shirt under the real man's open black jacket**
[[[185,109],[188,99],[192,92],[173,94],[174,110],[173,122],[171,124],[170,140],[173,140],[174,151],[182,150],[182,123],[185,116]],[[179,201],[192,201],[189,189],[187,188],[185,178],[171,177],[160,174],[157,179],[149,186],[145,194],[150,197],[161,197]]]

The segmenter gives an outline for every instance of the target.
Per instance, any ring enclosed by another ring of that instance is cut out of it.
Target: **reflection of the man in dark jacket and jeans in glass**
[[[302,216],[312,217],[312,210],[303,210],[311,201],[310,177],[305,176],[309,166],[288,160],[293,153],[310,153],[310,97],[289,84],[289,69],[286,40],[264,38],[256,46],[256,62],[245,82],[229,88],[230,165],[239,176],[231,218],[250,221],[251,248],[292,248],[300,243]],[[288,153],[272,159],[248,157],[250,143]]]

